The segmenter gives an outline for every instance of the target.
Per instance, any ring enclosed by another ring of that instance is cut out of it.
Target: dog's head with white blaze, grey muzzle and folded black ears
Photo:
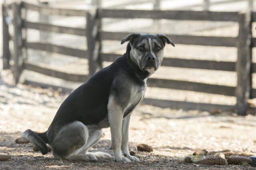
[[[140,70],[153,73],[158,69],[163,61],[164,46],[165,44],[171,44],[175,46],[172,40],[170,40],[163,33],[148,34],[148,33],[130,33],[124,39],[124,42],[130,42],[130,59],[134,64],[137,64]]]

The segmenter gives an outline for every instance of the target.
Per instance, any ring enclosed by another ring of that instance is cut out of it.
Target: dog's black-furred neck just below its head
[[[126,53],[124,54],[127,63],[131,66],[132,70],[139,78],[141,78],[142,80],[146,80],[146,78],[148,78],[148,76],[150,76],[150,73],[146,70],[142,71],[139,68],[138,64],[134,63],[134,61],[131,60],[130,51],[131,51],[131,46],[130,46],[130,43],[128,43],[128,45],[126,47]]]

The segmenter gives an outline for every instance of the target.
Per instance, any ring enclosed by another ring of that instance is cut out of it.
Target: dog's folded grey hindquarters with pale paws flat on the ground
[[[52,154],[56,158],[67,160],[96,161],[111,158],[103,152],[88,152],[102,137],[102,129],[96,125],[86,126],[80,121],[74,121],[60,129],[50,143]]]

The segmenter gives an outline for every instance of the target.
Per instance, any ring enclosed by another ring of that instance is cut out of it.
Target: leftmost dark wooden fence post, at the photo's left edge
[[[10,41],[10,35],[9,35],[9,26],[6,23],[7,16],[7,9],[2,4],[2,33],[3,33],[3,69],[10,68],[10,51],[9,51],[9,41]]]

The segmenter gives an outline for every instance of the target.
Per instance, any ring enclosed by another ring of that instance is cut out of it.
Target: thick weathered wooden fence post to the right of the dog
[[[248,109],[247,100],[251,90],[251,13],[238,15],[239,33],[237,39],[237,86],[236,86],[236,113],[246,115]]]

